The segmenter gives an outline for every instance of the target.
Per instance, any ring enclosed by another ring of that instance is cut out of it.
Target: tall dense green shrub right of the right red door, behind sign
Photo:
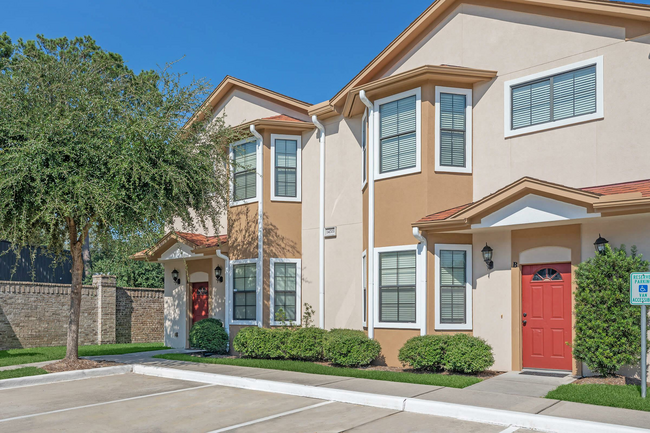
[[[641,309],[630,305],[630,273],[645,272],[648,261],[632,247],[607,246],[575,272],[573,356],[601,375],[614,374],[641,356]]]

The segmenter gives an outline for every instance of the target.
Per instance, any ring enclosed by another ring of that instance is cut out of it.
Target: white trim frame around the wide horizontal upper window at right
[[[551,75],[561,74],[573,69],[579,69],[586,66],[596,65],[596,112],[585,114],[577,117],[570,117],[555,122],[546,122],[539,125],[531,125],[525,128],[512,129],[512,87],[528,81],[534,81],[541,78],[550,77]],[[532,132],[544,131],[547,129],[559,128],[567,125],[574,125],[576,123],[589,122],[595,119],[602,119],[605,117],[605,109],[603,104],[603,56],[594,57],[592,59],[583,60],[581,62],[572,63],[570,65],[561,66],[548,71],[539,72],[537,74],[526,75],[525,77],[515,78],[508,80],[503,84],[503,98],[504,98],[504,124],[503,131],[506,138],[516,137],[518,135],[530,134]]]

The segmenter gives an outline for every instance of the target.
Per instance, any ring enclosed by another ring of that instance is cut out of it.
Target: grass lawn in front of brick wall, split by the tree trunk
[[[147,352],[169,349],[162,343],[129,343],[79,346],[79,356],[123,355],[125,353]],[[0,367],[29,364],[32,362],[55,361],[65,357],[65,346],[33,347],[31,349],[0,350]]]

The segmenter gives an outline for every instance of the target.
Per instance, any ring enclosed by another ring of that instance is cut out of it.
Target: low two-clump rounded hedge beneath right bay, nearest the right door
[[[475,374],[494,364],[492,347],[482,338],[467,334],[425,335],[408,340],[398,356],[415,370],[447,370]]]

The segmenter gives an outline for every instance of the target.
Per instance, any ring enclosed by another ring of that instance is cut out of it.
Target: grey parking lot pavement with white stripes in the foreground
[[[137,374],[2,390],[0,402],[0,431],[7,432],[514,431],[503,426]]]

